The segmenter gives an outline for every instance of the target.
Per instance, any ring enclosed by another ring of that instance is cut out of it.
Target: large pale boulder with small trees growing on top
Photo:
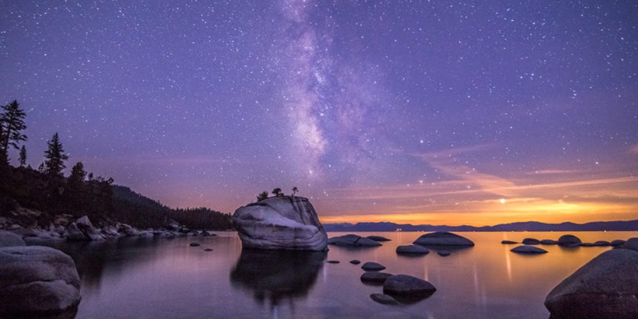
[[[328,236],[308,198],[271,197],[239,207],[233,225],[244,248],[327,250]]]

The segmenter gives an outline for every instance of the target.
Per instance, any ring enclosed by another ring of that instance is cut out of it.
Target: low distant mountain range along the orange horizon
[[[595,230],[638,230],[638,219],[630,221],[593,221],[591,223],[546,224],[538,221],[499,224],[494,226],[412,225],[382,221],[379,223],[323,224],[327,232],[578,232]]]

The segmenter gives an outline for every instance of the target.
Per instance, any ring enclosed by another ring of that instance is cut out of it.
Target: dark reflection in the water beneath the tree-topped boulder
[[[233,286],[253,292],[256,300],[269,302],[272,309],[287,300],[305,297],[315,285],[325,251],[267,251],[242,249],[230,271]]]

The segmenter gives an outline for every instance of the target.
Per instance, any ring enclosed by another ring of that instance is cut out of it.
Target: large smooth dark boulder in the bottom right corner
[[[638,318],[638,252],[605,251],[561,281],[547,298],[552,318]]]

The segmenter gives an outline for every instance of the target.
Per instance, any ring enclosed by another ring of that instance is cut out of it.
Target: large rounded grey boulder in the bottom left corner
[[[43,246],[0,248],[0,317],[60,313],[80,302],[80,278],[70,256]]]

